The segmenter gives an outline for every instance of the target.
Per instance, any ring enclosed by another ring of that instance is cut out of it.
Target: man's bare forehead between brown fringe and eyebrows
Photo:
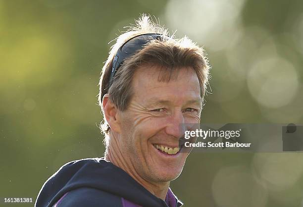
[[[180,101],[181,98],[201,98],[199,79],[194,69],[184,67],[171,73],[163,73],[163,70],[166,69],[157,66],[137,69],[132,80],[134,96],[144,99],[178,97]],[[169,75],[171,78],[167,81]]]

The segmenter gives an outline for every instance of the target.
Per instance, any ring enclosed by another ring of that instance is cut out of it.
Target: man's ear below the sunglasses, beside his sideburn
[[[105,94],[102,99],[102,109],[106,122],[108,123],[110,130],[113,130],[117,133],[121,132],[120,121],[118,118],[118,109],[113,104],[108,97],[108,94]]]

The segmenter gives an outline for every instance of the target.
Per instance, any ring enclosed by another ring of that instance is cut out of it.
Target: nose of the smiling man
[[[175,138],[181,138],[185,133],[184,117],[182,111],[174,111],[167,117],[165,133]]]

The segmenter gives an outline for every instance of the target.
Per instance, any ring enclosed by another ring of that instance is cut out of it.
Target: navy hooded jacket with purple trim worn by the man
[[[163,201],[103,158],[65,164],[43,185],[36,207],[180,207],[168,189]]]

